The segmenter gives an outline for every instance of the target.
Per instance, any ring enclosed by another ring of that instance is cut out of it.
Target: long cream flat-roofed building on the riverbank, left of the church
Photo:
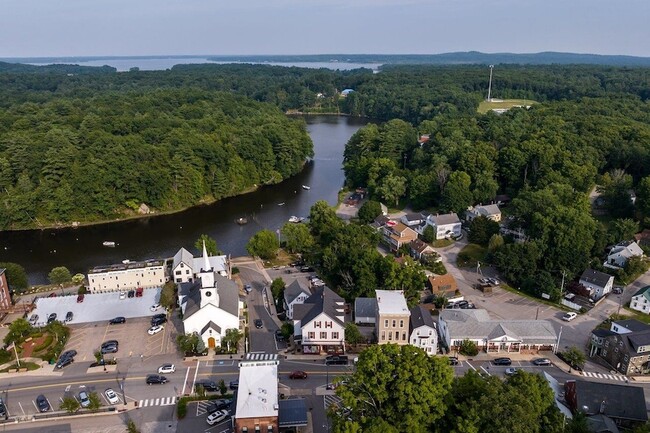
[[[167,281],[164,260],[146,260],[97,266],[88,271],[88,289],[90,292],[99,290],[131,290],[138,287],[162,287]]]

